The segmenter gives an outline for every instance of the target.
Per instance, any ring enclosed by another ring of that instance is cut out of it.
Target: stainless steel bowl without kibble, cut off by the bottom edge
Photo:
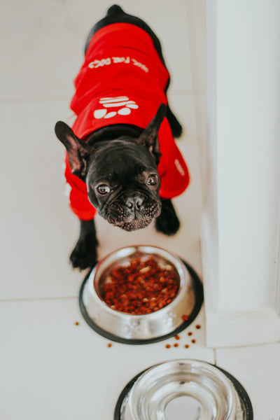
[[[251,402],[241,384],[228,372],[200,360],[154,365],[124,391],[115,420],[253,419]]]

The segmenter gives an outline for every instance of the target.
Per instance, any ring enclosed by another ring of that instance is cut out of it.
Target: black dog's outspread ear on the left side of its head
[[[90,155],[94,153],[94,148],[76,137],[73,130],[62,121],[57,121],[55,134],[66,147],[72,174],[85,181],[87,163]]]

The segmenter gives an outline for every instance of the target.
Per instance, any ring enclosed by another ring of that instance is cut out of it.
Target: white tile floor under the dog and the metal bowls
[[[200,265],[200,144],[205,140],[204,0],[123,0],[162,40],[172,84],[169,101],[184,127],[179,146],[192,182],[174,200],[182,221],[176,237],[153,227],[126,233],[97,218],[100,256],[127,244],[154,244]],[[280,418],[279,344],[207,349],[204,311],[181,334],[145,346],[114,343],[93,332],[78,309],[83,274],[68,255],[78,221],[64,199],[64,151],[56,120],[69,121],[71,81],[92,24],[111,1],[2,0],[0,3],[1,266],[0,420],[111,420],[123,386],[137,372],[170,358],[224,367],[246,387],[256,420]],[[79,325],[76,325],[76,322]]]

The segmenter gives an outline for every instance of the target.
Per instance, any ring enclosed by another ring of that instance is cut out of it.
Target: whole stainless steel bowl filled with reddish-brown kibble
[[[137,245],[100,260],[86,276],[79,302],[85,321],[100,335],[125,344],[148,344],[185,329],[200,311],[202,292],[193,269],[176,255]]]

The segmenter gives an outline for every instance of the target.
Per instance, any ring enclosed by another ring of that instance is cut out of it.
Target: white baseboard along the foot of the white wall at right
[[[280,316],[274,308],[218,310],[218,274],[213,232],[202,218],[202,276],[207,347],[250,346],[280,342]],[[257,285],[256,285],[257,286]],[[238,302],[237,302],[238,304]],[[237,305],[238,306],[238,305]]]

